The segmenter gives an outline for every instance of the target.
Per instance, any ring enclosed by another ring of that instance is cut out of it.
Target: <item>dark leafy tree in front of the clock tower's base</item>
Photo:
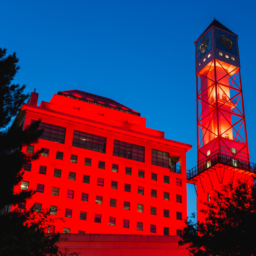
[[[205,220],[185,221],[179,245],[187,245],[193,256],[256,255],[256,187],[251,181],[223,185],[203,204]]]

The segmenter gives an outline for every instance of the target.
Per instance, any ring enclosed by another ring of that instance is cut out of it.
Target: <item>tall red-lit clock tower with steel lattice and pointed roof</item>
[[[195,42],[197,166],[189,171],[200,201],[212,188],[254,175],[250,163],[237,35],[214,21]]]

